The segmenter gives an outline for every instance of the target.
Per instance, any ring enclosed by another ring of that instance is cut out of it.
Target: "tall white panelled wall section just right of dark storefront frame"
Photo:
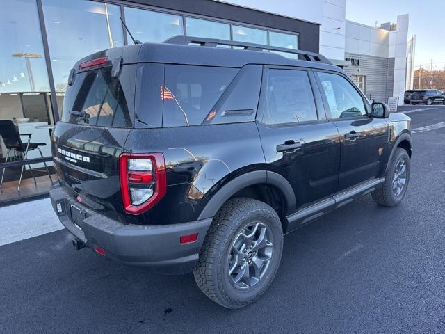
[[[346,0],[323,0],[320,53],[328,59],[345,58]]]

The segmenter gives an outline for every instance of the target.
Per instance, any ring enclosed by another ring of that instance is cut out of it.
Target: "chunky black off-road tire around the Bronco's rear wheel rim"
[[[246,225],[261,222],[273,235],[273,255],[265,275],[247,290],[236,289],[228,273],[229,252],[234,239]],[[212,301],[225,308],[243,308],[256,301],[272,283],[280,265],[283,231],[275,210],[259,200],[232,198],[213,218],[204,238],[200,259],[193,271],[197,286]]]

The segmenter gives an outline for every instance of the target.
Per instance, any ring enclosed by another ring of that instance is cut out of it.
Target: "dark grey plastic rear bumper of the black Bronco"
[[[124,225],[76,202],[62,186],[49,191],[51,204],[60,223],[89,248],[99,246],[105,257],[133,266],[154,267],[161,273],[193,271],[211,218],[175,225]],[[74,224],[70,206],[75,205],[86,218]],[[62,212],[58,212],[58,209]],[[81,226],[80,226],[81,225]],[[197,241],[179,244],[181,235],[197,233]]]

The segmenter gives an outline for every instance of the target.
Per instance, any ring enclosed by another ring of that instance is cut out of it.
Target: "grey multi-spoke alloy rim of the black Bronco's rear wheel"
[[[273,239],[264,223],[250,223],[238,233],[229,254],[228,274],[236,289],[253,287],[270,267]]]

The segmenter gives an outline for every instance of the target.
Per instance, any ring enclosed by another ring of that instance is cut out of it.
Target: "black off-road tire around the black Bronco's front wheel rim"
[[[392,181],[394,177],[394,170],[396,169],[396,164],[400,159],[404,159],[406,163],[406,168],[407,168],[406,183],[401,194],[399,196],[396,196],[396,194],[393,191]],[[409,183],[410,183],[410,156],[403,148],[396,148],[393,156],[391,157],[391,161],[389,161],[389,166],[387,168],[387,171],[385,172],[385,182],[380,184],[378,189],[375,189],[375,191],[371,193],[371,196],[378,205],[384,205],[386,207],[395,207],[401,204]]]

